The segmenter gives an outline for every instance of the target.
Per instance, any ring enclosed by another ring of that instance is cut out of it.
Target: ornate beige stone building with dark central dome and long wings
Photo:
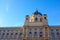
[[[60,40],[60,26],[48,25],[47,14],[26,15],[22,27],[0,28],[0,40]]]

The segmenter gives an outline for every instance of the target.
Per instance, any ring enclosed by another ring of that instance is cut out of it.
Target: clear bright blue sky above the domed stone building
[[[60,25],[60,0],[0,0],[0,27],[23,26],[36,9],[48,15],[49,25]]]

